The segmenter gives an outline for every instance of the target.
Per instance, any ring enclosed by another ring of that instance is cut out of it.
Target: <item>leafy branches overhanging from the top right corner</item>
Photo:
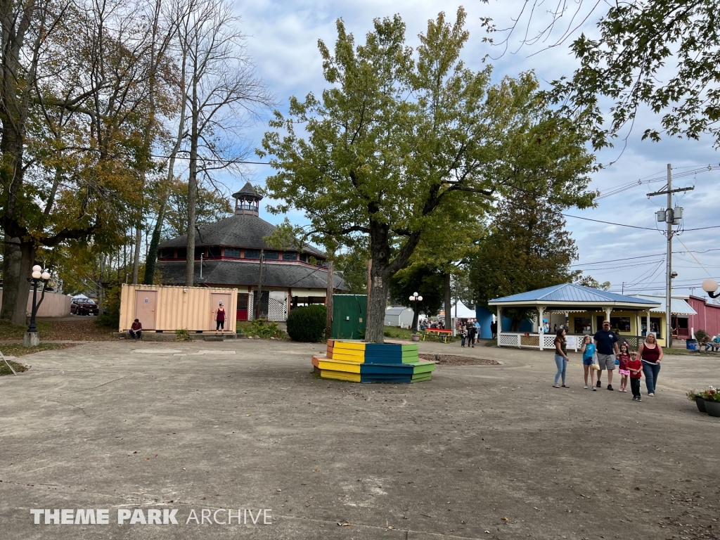
[[[483,0],[487,3],[488,0]],[[526,2],[523,12],[528,18],[516,17],[503,40],[507,43],[518,22],[530,24],[540,0]],[[550,47],[564,44],[600,2],[578,1],[574,7],[563,0],[550,10],[541,30],[535,34],[523,30],[523,44],[534,44],[547,38],[562,19],[568,20],[560,37]],[[521,13],[522,15],[522,13]],[[487,27],[495,31],[490,19]],[[521,23],[523,24],[523,23]],[[662,114],[660,128],[649,127],[643,138],[660,140],[682,135],[698,139],[702,133],[714,138],[720,147],[720,27],[717,24],[717,2],[712,0],[633,0],[608,2],[608,11],[598,22],[600,35],[592,39],[584,33],[571,45],[580,60],[580,68],[570,78],[554,81],[554,96],[572,110],[589,112],[593,119],[595,148],[608,145],[618,132],[633,125],[641,106]],[[603,98],[612,105],[608,117],[603,114]]]

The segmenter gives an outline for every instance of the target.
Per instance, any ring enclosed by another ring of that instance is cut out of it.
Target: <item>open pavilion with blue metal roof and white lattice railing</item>
[[[636,348],[642,343],[647,334],[647,328],[655,332],[657,341],[665,345],[662,328],[664,328],[664,315],[656,321],[652,313],[653,308],[660,307],[660,300],[647,297],[631,297],[615,292],[599,289],[590,289],[572,283],[554,285],[534,291],[513,294],[512,296],[496,298],[487,302],[489,306],[498,309],[498,320],[502,320],[502,329],[498,334],[498,346],[552,348],[553,334],[542,333],[542,321],[550,319],[551,315],[562,315],[561,320],[569,328],[567,332],[571,347],[581,340],[579,336],[589,333],[593,335],[601,328],[603,320],[609,320],[611,328],[619,336],[625,338],[631,347]],[[532,331],[510,332],[510,320],[503,320],[503,308],[519,307],[537,310],[536,320],[532,321]],[[653,324],[655,323],[655,324]]]

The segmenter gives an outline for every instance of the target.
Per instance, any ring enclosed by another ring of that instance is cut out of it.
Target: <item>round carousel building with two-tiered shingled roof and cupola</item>
[[[263,238],[275,226],[260,218],[262,197],[250,182],[233,197],[233,216],[195,231],[194,285],[237,288],[238,320],[253,318],[259,285],[260,318],[283,321],[294,307],[324,304],[328,289],[325,254],[312,246],[301,251],[271,248]],[[186,245],[186,235],[160,244],[157,268],[163,284],[184,285]],[[343,280],[335,276],[333,290],[345,289]]]

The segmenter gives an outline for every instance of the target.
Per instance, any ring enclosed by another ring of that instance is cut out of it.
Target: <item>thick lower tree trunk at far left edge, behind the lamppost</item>
[[[5,237],[3,256],[3,299],[0,319],[24,325],[27,320],[27,295],[30,282],[27,278],[35,263],[35,246],[19,238]]]

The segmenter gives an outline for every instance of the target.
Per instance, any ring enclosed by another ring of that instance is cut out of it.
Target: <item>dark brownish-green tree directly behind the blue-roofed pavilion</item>
[[[500,203],[490,235],[469,264],[478,304],[577,278],[580,271],[570,269],[577,248],[559,210],[542,199]],[[515,330],[530,312],[503,310]]]

